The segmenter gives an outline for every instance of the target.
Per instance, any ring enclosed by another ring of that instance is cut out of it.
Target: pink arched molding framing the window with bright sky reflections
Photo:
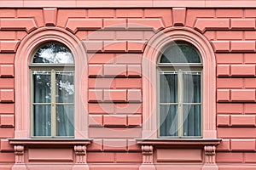
[[[85,101],[87,94],[86,54],[79,38],[69,31],[56,27],[44,27],[25,37],[15,55],[15,138],[30,137],[30,78],[29,64],[35,50],[45,42],[60,42],[73,54],[75,65],[75,133],[74,138],[87,138]]]

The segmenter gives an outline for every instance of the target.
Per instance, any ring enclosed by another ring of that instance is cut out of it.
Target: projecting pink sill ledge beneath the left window
[[[8,139],[9,144],[22,145],[87,145],[92,139]]]

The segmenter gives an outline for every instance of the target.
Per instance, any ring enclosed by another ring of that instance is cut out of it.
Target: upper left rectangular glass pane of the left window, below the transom
[[[50,103],[50,72],[33,71],[33,102]]]

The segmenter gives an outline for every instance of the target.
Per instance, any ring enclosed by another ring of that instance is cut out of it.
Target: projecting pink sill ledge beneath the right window
[[[195,147],[201,148],[205,145],[218,145],[221,139],[136,139],[137,144],[154,145],[156,147]]]

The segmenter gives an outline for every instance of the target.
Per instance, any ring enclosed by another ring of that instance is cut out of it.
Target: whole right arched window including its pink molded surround
[[[212,46],[198,31],[172,27],[154,35],[143,54],[143,139],[216,139],[215,69]]]

